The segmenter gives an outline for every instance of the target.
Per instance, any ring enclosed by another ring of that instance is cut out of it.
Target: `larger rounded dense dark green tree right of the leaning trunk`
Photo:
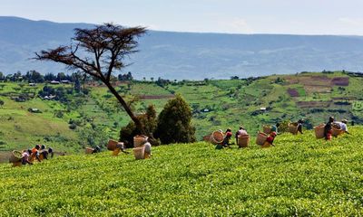
[[[195,141],[195,127],[191,126],[191,108],[177,95],[165,105],[159,115],[155,137],[162,144],[190,143]]]

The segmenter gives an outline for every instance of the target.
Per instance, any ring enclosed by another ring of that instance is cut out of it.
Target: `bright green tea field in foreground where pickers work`
[[[206,143],[132,155],[57,156],[0,165],[1,216],[359,216],[363,127],[327,142],[312,131],[275,147]]]

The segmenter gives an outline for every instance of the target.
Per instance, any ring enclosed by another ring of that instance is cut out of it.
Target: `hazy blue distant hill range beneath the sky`
[[[0,16],[0,71],[64,71],[50,62],[28,59],[34,52],[68,44],[74,28]],[[363,37],[286,34],[172,33],[150,31],[132,55],[136,78],[202,80],[250,77],[298,71],[363,71]]]

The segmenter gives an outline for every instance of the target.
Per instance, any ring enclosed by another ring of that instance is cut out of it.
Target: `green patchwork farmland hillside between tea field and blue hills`
[[[75,93],[72,84],[51,86],[64,92],[64,101],[39,98],[44,86],[0,83],[0,100],[5,102],[0,107],[0,154],[37,143],[69,153],[85,146],[104,146],[108,138],[118,138],[120,128],[130,121],[102,85],[87,84],[87,95]],[[306,119],[306,128],[326,122],[329,116],[363,124],[363,78],[341,71],[258,80],[172,81],[163,85],[136,80],[116,86],[127,101],[134,101],[132,109],[137,114],[151,104],[159,113],[174,94],[182,94],[191,106],[198,140],[220,128],[231,127],[234,131],[243,125],[253,134],[265,124],[299,118]],[[16,101],[24,94],[29,95],[28,100]],[[6,157],[1,159],[6,161]]]

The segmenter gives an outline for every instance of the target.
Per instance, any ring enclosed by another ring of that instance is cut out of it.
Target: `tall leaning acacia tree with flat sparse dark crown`
[[[93,29],[77,28],[74,29],[71,45],[35,52],[34,59],[61,62],[69,70],[83,71],[85,74],[101,80],[122,104],[135,126],[143,132],[140,120],[114,89],[111,77],[114,71],[126,67],[125,57],[137,52],[136,39],[144,33],[146,33],[144,27],[123,27],[117,24],[95,25]]]

